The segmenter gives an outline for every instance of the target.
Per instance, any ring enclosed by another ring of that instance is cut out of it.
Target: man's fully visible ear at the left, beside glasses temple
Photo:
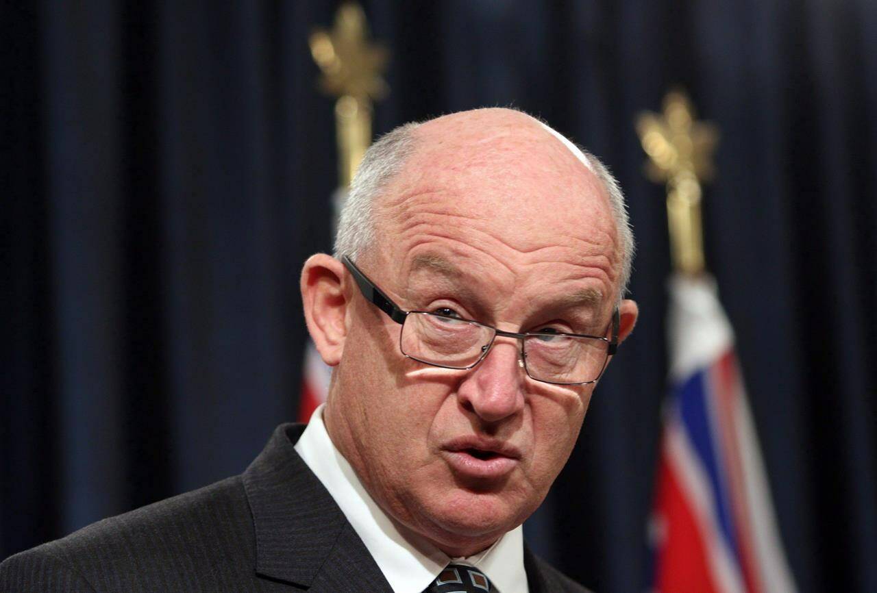
[[[350,302],[345,293],[345,269],[339,260],[317,253],[304,262],[302,303],[310,339],[325,364],[341,362],[347,337],[346,313]]]

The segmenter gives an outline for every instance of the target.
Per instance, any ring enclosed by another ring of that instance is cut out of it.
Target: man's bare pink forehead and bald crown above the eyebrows
[[[440,122],[418,130],[417,151],[381,200],[387,265],[410,272],[438,252],[513,284],[526,273],[590,276],[611,292],[618,261],[609,201],[566,145],[523,114],[433,125]]]

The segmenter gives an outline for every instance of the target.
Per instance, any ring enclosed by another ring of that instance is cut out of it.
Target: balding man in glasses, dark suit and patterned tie
[[[530,116],[391,132],[336,257],[304,265],[334,367],[307,429],[279,427],[240,477],[14,556],[0,590],[584,590],[521,524],[636,321],[631,252],[616,182]]]

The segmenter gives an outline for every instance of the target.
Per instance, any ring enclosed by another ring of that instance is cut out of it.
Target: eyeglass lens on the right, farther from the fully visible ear
[[[549,383],[588,383],[600,378],[609,342],[569,335],[524,338],[524,360],[531,378]]]

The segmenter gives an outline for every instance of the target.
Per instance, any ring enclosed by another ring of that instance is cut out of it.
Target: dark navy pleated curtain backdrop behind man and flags
[[[0,558],[237,474],[294,420],[303,259],[331,250],[338,4],[0,4]],[[480,106],[616,173],[641,317],[532,547],[643,590],[667,392],[664,188],[633,122],[688,89],[722,138],[707,262],[802,591],[877,591],[877,4],[364,1],[374,132]]]

